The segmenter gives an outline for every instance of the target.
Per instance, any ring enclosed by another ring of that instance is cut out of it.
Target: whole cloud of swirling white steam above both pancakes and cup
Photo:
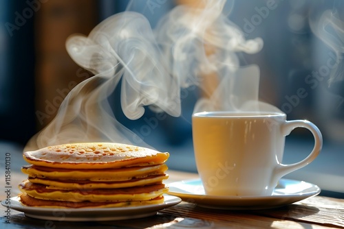
[[[107,97],[120,82],[121,108],[129,119],[142,117],[145,107],[180,116],[180,88],[204,88],[202,83],[209,76],[219,86],[215,93],[206,92],[195,112],[275,109],[258,101],[258,67],[240,67],[237,56],[239,51],[256,53],[263,42],[245,40],[239,27],[224,15],[225,3],[208,0],[192,8],[179,5],[155,29],[142,14],[126,11],[110,16],[89,36],[70,36],[69,55],[95,75],[67,95],[55,119],[25,150],[95,141],[147,147],[114,117],[112,109],[118,108],[111,108]]]

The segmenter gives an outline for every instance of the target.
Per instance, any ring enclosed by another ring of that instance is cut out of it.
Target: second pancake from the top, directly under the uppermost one
[[[165,164],[147,167],[125,167],[119,169],[61,169],[27,165],[21,171],[32,178],[51,178],[58,180],[120,181],[133,178],[164,174]]]

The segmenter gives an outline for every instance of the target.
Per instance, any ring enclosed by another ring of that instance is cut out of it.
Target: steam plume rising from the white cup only
[[[235,77],[241,72],[236,52],[256,53],[263,47],[261,38],[245,40],[239,27],[222,13],[225,3],[226,1],[202,1],[195,8],[179,5],[158,23],[156,29],[156,38],[164,56],[171,58],[169,69],[181,87],[197,84],[204,89],[208,97],[211,97],[213,92],[206,91],[202,85],[204,75],[213,77],[211,80],[215,82],[221,82],[218,85],[226,85],[218,88],[217,93],[210,99],[201,99],[196,104],[194,112],[233,108],[229,104],[233,99],[230,99],[231,95],[228,93],[233,93],[233,87],[237,86]],[[235,97],[257,101],[258,93],[255,92],[259,87],[259,71],[252,70],[247,73],[253,75],[244,75],[242,80],[250,86],[253,86],[251,83],[255,86],[246,88],[243,82],[241,86],[244,87],[241,89],[244,90],[237,91],[239,94],[236,93]],[[249,91],[250,89],[252,91]],[[238,105],[235,104],[235,107]]]

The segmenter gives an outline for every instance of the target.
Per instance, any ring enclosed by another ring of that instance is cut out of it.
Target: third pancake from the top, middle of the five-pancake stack
[[[149,184],[161,184],[169,176],[166,174],[148,176],[147,178],[136,178],[125,181],[92,182],[91,180],[51,180],[42,178],[31,178],[28,180],[36,184],[44,184],[46,189],[122,189],[133,186],[144,186]]]

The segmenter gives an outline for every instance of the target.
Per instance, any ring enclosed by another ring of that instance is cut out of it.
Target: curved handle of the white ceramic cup
[[[287,136],[294,130],[294,128],[306,128],[312,132],[314,136],[314,147],[312,149],[312,152],[303,160],[300,162],[296,162],[294,164],[290,165],[283,165],[279,163],[277,167],[275,168],[275,179],[274,181],[278,181],[282,176],[285,176],[288,173],[291,173],[292,171],[295,171],[297,169],[301,169],[302,167],[305,167],[310,162],[312,162],[320,153],[321,148],[323,147],[323,136],[321,135],[321,132],[319,128],[314,125],[314,123],[311,123],[307,120],[292,120],[292,121],[285,121],[281,125],[281,133],[283,136]]]

